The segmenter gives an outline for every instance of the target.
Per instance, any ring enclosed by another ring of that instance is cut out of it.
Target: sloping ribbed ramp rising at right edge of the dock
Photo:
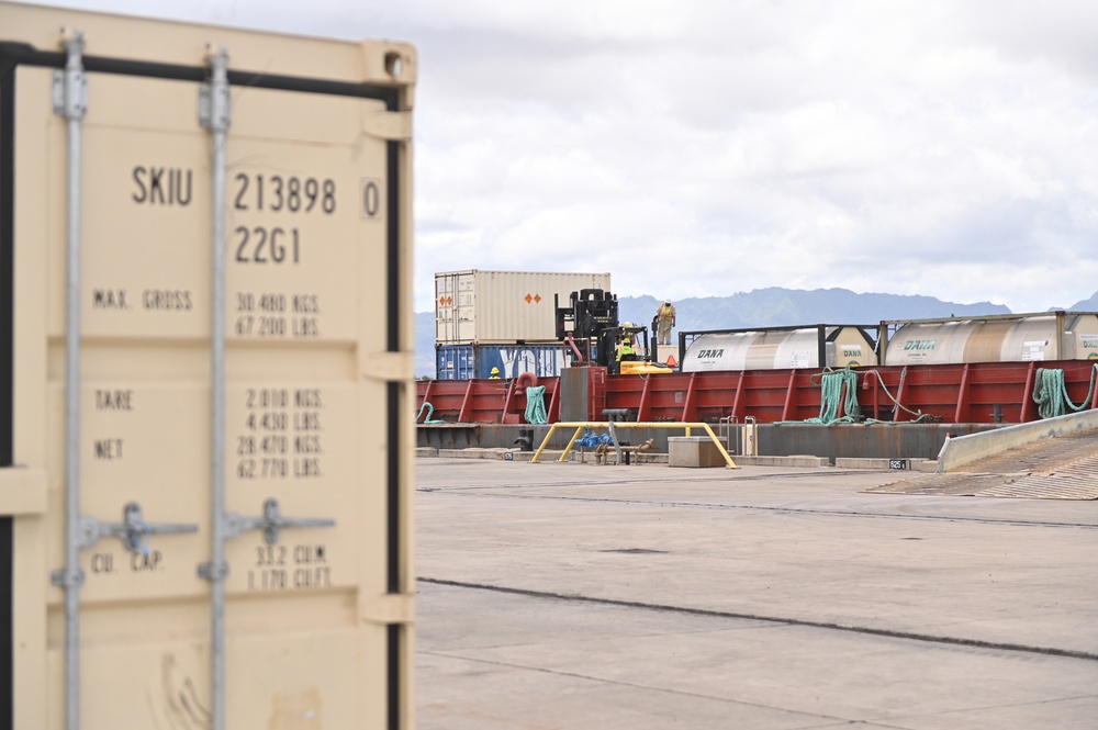
[[[1053,436],[949,474],[927,474],[865,492],[1098,499],[1098,429]]]

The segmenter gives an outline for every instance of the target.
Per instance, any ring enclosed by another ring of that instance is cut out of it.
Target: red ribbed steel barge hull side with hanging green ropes
[[[934,420],[957,424],[1020,424],[1040,419],[1033,389],[1039,369],[1064,371],[1067,396],[1094,408],[1095,362],[1058,360],[971,362],[933,366],[877,366],[858,369],[860,416],[895,423]],[[796,422],[820,415],[820,370],[743,370],[610,375],[605,368],[578,368],[587,374],[586,418],[604,420],[606,409],[628,409],[639,422]],[[574,375],[573,375],[574,377]],[[417,423],[426,418],[461,424],[525,423],[526,388],[546,388],[549,423],[561,419],[561,379],[417,381]],[[1087,401],[1089,395],[1089,401]],[[845,401],[845,397],[843,397]],[[424,407],[429,403],[430,408]],[[582,405],[582,404],[581,404]],[[432,411],[433,409],[433,411]],[[574,412],[574,407],[573,407]]]

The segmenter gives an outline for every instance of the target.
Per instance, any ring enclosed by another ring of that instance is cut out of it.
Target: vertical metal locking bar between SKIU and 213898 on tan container
[[[225,141],[229,124],[228,54],[206,49],[210,82],[203,89],[202,125],[211,132],[211,550],[200,573],[210,581],[210,728],[225,730]]]

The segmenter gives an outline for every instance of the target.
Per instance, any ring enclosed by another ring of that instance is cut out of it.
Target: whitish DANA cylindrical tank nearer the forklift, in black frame
[[[856,326],[706,333],[683,356],[683,372],[876,364],[873,340]]]

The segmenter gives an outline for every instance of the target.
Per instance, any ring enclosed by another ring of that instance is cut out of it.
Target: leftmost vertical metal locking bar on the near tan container
[[[61,31],[67,54],[59,75],[61,103],[55,108],[67,120],[66,169],[66,295],[65,319],[65,727],[80,727],[80,175],[81,122],[87,114],[83,75],[83,33]]]

